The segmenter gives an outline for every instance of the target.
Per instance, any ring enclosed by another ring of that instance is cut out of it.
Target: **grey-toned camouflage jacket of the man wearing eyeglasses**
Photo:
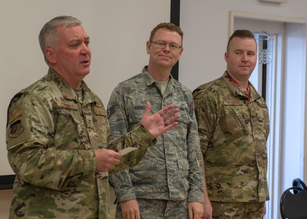
[[[173,104],[180,109],[181,117],[174,129],[157,137],[157,144],[148,148],[138,165],[109,176],[118,201],[188,198],[189,202],[203,202],[204,174],[192,93],[171,75],[163,96],[161,84],[155,82],[146,66],[141,74],[115,87],[107,110],[112,137],[134,129],[147,100],[152,114]]]

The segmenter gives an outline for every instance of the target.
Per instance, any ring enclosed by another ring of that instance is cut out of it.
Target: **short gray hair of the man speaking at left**
[[[48,59],[45,54],[46,48],[56,48],[59,41],[59,37],[56,34],[56,27],[58,26],[75,26],[81,25],[81,21],[77,18],[70,16],[59,16],[48,21],[41,32],[38,35],[39,44],[41,46],[41,51],[44,54],[45,62],[48,64]]]

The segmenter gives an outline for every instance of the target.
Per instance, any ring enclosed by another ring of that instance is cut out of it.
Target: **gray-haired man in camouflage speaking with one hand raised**
[[[8,109],[7,150],[16,173],[10,218],[110,218],[108,171],[137,164],[155,137],[177,125],[179,115],[168,118],[179,110],[167,113],[171,105],[150,116],[148,104],[141,123],[110,142],[105,108],[82,80],[91,50],[81,22],[56,17],[39,40],[48,74]],[[165,127],[165,119],[172,124]],[[127,147],[138,150],[116,152]]]

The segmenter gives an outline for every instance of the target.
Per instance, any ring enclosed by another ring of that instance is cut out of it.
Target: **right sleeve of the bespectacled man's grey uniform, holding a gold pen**
[[[200,151],[200,141],[197,134],[197,123],[194,111],[193,98],[191,96],[190,117],[192,122],[188,128],[187,149],[188,162],[190,166],[189,183],[190,191],[188,194],[188,202],[204,202],[204,172]]]

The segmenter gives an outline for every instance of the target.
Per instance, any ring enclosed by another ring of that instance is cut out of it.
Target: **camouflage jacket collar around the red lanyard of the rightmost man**
[[[236,85],[235,83],[232,82],[231,78],[228,76],[226,71],[223,74],[223,79],[224,79],[225,83],[227,84],[227,87],[230,90],[230,92],[232,93],[232,95],[234,95],[234,96],[241,95],[243,97],[246,97],[246,95],[244,94],[244,91],[241,90],[238,85]],[[250,99],[250,101],[258,99],[260,97],[260,94],[258,94],[255,87],[252,85],[252,83],[250,81],[248,81],[248,85],[251,89],[251,99]]]

